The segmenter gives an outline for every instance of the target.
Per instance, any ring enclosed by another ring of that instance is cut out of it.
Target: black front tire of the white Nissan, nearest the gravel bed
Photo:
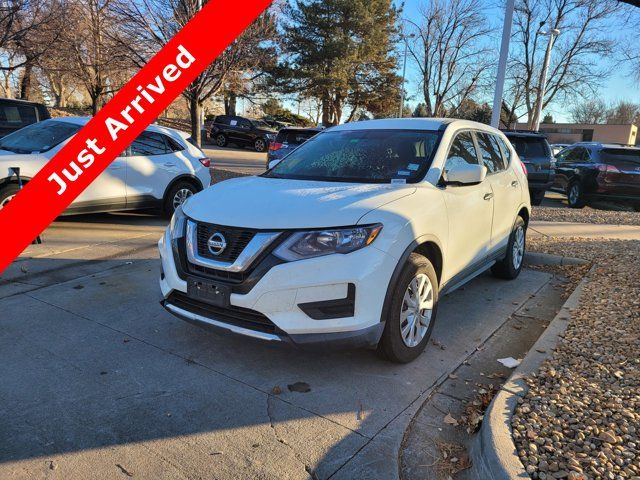
[[[422,283],[422,301],[431,307],[430,310],[427,307],[414,311],[419,307],[411,305],[411,291],[416,290],[418,282]],[[438,310],[438,277],[429,259],[412,253],[391,288],[378,354],[392,362],[408,363],[415,360],[429,343]]]

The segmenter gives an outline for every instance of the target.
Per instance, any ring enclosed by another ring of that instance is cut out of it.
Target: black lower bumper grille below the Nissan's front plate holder
[[[216,307],[189,298],[181,292],[173,292],[167,298],[167,303],[182,308],[196,315],[200,315],[211,320],[227,323],[236,327],[247,328],[257,332],[282,334],[283,332],[269,320],[265,315],[248,308],[231,306],[229,308]]]

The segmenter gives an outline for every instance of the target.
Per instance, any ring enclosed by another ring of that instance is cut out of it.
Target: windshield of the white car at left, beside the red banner
[[[0,139],[0,150],[14,153],[46,152],[73,136],[80,128],[80,125],[57,120],[34,123]]]

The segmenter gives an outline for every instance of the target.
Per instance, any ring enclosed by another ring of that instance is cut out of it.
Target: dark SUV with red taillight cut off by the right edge
[[[626,203],[640,211],[640,148],[576,143],[560,152],[553,190],[565,193],[570,207],[592,200]]]

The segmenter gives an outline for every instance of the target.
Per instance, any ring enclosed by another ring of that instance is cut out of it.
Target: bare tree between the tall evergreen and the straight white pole
[[[408,20],[417,42],[409,51],[421,73],[429,116],[455,112],[477,92],[491,66],[482,44],[489,23],[478,0],[429,0]]]

